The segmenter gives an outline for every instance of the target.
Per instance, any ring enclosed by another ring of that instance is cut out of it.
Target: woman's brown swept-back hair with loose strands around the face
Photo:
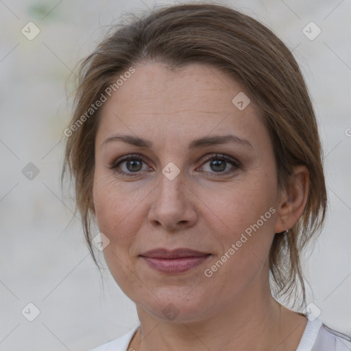
[[[311,98],[285,44],[265,25],[223,5],[186,3],[145,12],[141,19],[134,17],[128,24],[115,25],[82,60],[61,181],[67,171],[73,178],[76,211],[82,216],[93,260],[97,264],[90,225],[95,218],[95,136],[101,108],[89,109],[121,73],[146,61],[162,62],[170,68],[203,63],[226,71],[243,84],[261,112],[274,146],[278,186],[289,187],[289,175],[296,165],[307,167],[304,212],[288,234],[274,236],[269,252],[272,295],[284,295],[293,300],[293,306],[298,299],[304,306],[301,254],[322,229],[327,206],[322,147]]]

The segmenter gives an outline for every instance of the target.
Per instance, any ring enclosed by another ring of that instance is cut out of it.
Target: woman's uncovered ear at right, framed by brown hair
[[[304,212],[309,186],[307,167],[294,167],[288,184],[288,189],[282,189],[279,195],[278,217],[274,227],[276,233],[290,229]]]

